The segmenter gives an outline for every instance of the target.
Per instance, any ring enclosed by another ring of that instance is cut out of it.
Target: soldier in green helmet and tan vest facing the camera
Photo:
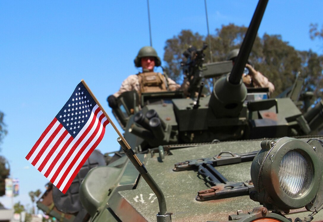
[[[154,48],[142,47],[134,59],[134,63],[137,68],[142,67],[142,72],[128,76],[122,82],[119,91],[108,97],[111,108],[116,106],[116,98],[126,91],[136,90],[140,98],[142,92],[175,91],[180,88],[180,85],[174,80],[159,72],[154,72],[154,68],[161,65],[161,59]]]

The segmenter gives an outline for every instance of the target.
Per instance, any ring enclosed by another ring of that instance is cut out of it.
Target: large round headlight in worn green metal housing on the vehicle
[[[252,199],[276,211],[322,205],[323,195],[316,198],[323,192],[323,147],[318,141],[284,137],[263,141],[261,148],[251,165]]]

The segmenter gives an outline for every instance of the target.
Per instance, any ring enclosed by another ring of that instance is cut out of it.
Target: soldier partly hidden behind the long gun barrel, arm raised
[[[235,59],[239,54],[239,49],[233,49],[229,55],[227,60],[232,60],[234,64]],[[275,86],[271,83],[263,74],[259,71],[256,71],[254,67],[251,65],[251,62],[248,60],[248,63],[245,64],[246,69],[248,69],[248,73],[242,74],[242,80],[246,87],[262,87],[268,88],[269,92],[272,93],[275,90]]]

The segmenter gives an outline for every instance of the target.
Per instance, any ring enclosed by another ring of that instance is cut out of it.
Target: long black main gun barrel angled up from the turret
[[[237,85],[241,81],[241,76],[245,68],[245,64],[248,61],[248,57],[251,52],[252,46],[254,45],[258,28],[260,26],[262,17],[265,13],[267,3],[268,3],[268,0],[260,0],[258,2],[254,16],[252,17],[248,30],[245,34],[245,38],[242,42],[238,57],[234,62],[234,66],[229,76],[229,82],[232,84]]]

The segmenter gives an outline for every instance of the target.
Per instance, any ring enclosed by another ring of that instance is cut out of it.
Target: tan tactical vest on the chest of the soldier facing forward
[[[159,72],[143,72],[138,74],[140,92],[167,91],[165,78]]]

